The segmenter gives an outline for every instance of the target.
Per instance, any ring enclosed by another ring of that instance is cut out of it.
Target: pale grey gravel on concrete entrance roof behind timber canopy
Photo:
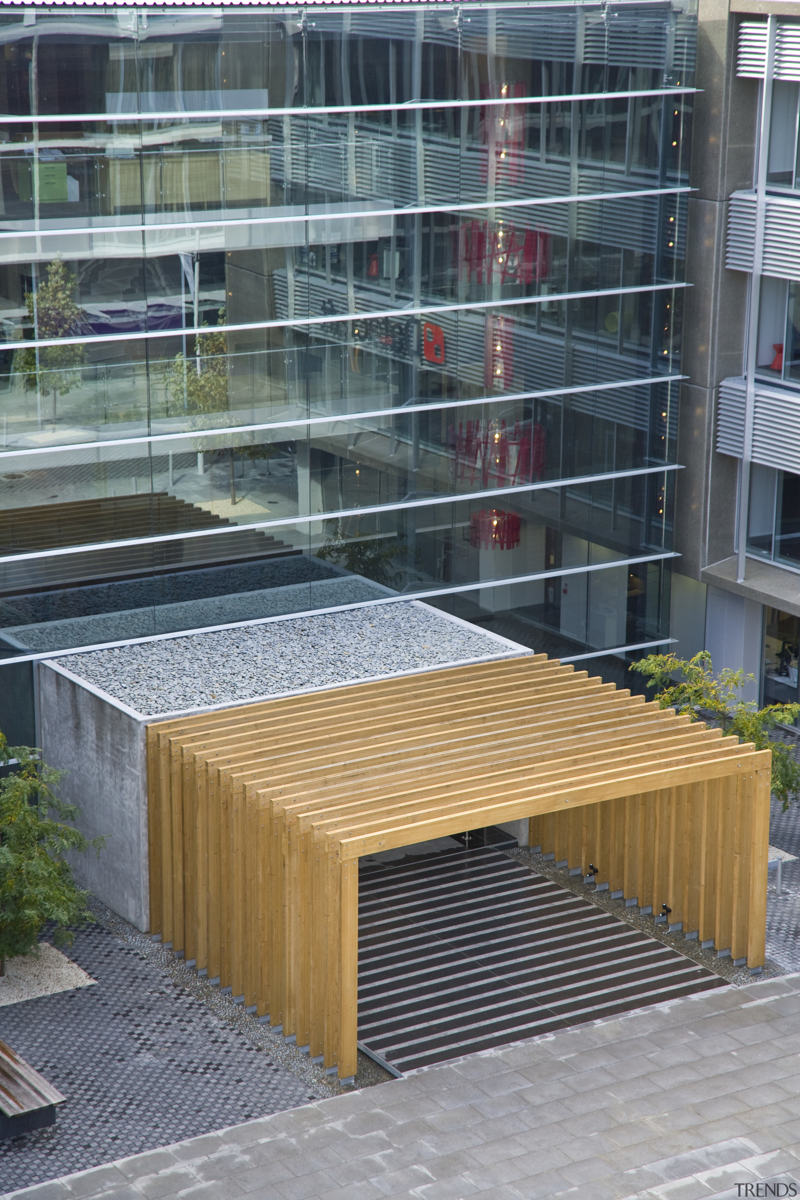
[[[353,584],[345,578],[344,584]],[[295,617],[62,660],[148,715],[513,653],[422,604]]]

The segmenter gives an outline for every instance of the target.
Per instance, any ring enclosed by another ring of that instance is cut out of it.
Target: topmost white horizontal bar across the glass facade
[[[488,108],[507,107],[509,104],[554,104],[554,103],[581,103],[582,101],[597,100],[637,100],[648,96],[691,96],[697,92],[697,88],[654,88],[644,91],[609,91],[609,92],[570,92],[555,96],[486,96],[480,100],[413,100],[402,104],[342,104],[324,106],[319,108],[299,106],[296,108],[209,108],[194,112],[181,112],[180,109],[163,113],[60,113],[47,115],[11,116],[0,114],[0,125],[46,125],[48,122],[61,124],[64,121],[104,121],[108,125],[131,125],[148,121],[191,121],[191,120],[247,120],[265,119],[270,116],[336,116],[344,113],[414,113],[435,110],[444,108]]]

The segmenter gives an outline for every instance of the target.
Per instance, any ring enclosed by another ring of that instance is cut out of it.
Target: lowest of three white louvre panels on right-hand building
[[[745,444],[745,380],[720,384],[717,450],[741,458]],[[800,474],[800,395],[756,385],[752,461]]]

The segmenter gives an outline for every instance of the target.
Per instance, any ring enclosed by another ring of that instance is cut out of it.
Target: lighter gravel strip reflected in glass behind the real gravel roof
[[[261,592],[187,600],[157,608],[130,608],[41,625],[12,625],[6,632],[12,634],[30,650],[58,650],[72,646],[120,642],[128,637],[152,637],[154,634],[172,634],[182,629],[201,629],[204,625],[227,625],[234,620],[282,617],[284,613],[305,612],[307,608],[363,604],[367,600],[383,600],[387,594],[393,593],[387,593],[386,588],[359,575],[337,576]]]

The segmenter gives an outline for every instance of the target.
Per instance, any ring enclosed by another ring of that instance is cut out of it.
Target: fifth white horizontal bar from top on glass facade
[[[509,487],[489,487],[474,492],[461,492],[456,496],[432,497],[426,496],[414,500],[397,500],[391,504],[372,504],[361,508],[338,509],[327,512],[295,514],[290,517],[276,517],[270,521],[252,521],[236,526],[218,526],[216,528],[203,528],[182,530],[180,533],[154,534],[148,538],[124,538],[116,541],[100,541],[78,546],[58,546],[52,550],[35,551],[34,553],[4,554],[0,556],[0,566],[7,563],[32,563],[44,558],[61,558],[65,554],[88,554],[96,551],[124,550],[128,546],[151,546],[164,542],[187,541],[193,538],[229,536],[230,534],[245,533],[253,529],[278,529],[284,526],[308,524],[319,521],[341,521],[347,517],[363,517],[369,514],[398,512],[411,509],[431,508],[438,504],[462,504],[470,500],[485,500],[492,497],[510,497],[539,491],[553,491],[559,486],[579,487],[582,485],[597,485],[612,482],[613,480],[638,479],[646,475],[666,474],[667,472],[682,470],[680,463],[663,463],[658,467],[639,467],[633,470],[606,472],[597,475],[576,475],[563,482],[554,480],[542,480],[535,484],[518,484]],[[552,572],[551,572],[552,574]],[[501,582],[506,582],[503,580]]]

